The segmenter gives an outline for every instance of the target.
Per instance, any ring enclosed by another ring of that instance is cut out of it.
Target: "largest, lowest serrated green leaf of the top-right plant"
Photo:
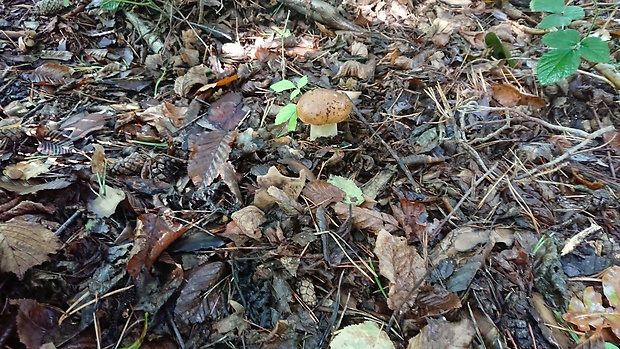
[[[536,75],[542,85],[558,82],[571,76],[579,68],[579,52],[569,48],[545,53],[538,61]]]

